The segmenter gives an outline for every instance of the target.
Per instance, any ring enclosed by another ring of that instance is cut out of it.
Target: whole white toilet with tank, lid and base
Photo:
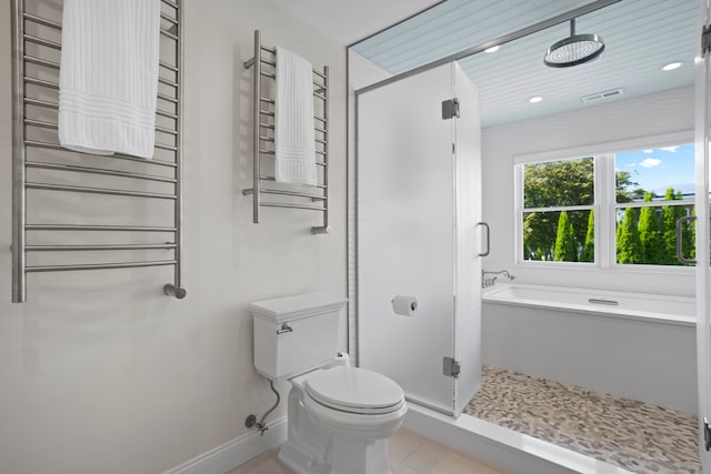
[[[336,353],[344,304],[314,293],[250,305],[257,371],[291,382],[279,458],[298,474],[391,474],[388,438],[408,411],[404,393]]]

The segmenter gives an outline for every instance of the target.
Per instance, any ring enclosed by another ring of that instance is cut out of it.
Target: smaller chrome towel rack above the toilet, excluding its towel
[[[262,53],[268,58],[263,58]],[[329,67],[324,65],[323,71],[313,70],[313,97],[321,102],[321,113],[318,114],[319,108],[314,108],[314,128],[316,130],[316,154],[317,167],[321,169],[321,178],[319,183],[314,186],[314,192],[303,192],[300,190],[289,189],[288,184],[282,185],[278,183],[273,177],[262,174],[261,160],[264,157],[273,157],[274,150],[269,148],[268,143],[274,142],[273,131],[273,118],[274,118],[274,100],[268,97],[263,97],[266,89],[262,87],[262,78],[268,80],[274,80],[277,78],[277,49],[266,47],[261,43],[261,34],[259,30],[254,31],[254,56],[244,62],[244,68],[254,68],[253,72],[253,91],[252,91],[252,108],[253,108],[253,172],[252,172],[252,188],[242,190],[243,195],[251,194],[253,196],[252,214],[253,222],[259,223],[260,206],[266,208],[292,208],[292,209],[306,209],[310,211],[318,211],[323,214],[323,225],[312,226],[311,233],[320,234],[329,232],[329,155],[328,155],[328,140],[329,140],[329,121],[328,121],[328,90],[329,90]],[[264,105],[264,108],[262,107]],[[264,182],[272,183],[270,186],[264,186]],[[262,201],[262,194],[288,196],[292,200],[300,202],[286,202],[286,201]],[[311,201],[306,203],[304,200]],[[314,204],[317,202],[317,204]]]

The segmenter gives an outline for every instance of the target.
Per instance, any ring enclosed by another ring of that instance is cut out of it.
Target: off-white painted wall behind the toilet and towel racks
[[[10,24],[0,16],[0,471],[157,473],[248,430],[272,404],[252,366],[250,301],[346,295],[346,51],[264,0],[186,1],[184,280],[169,269],[31,275],[10,303]],[[9,11],[9,4],[3,6]],[[328,64],[332,232],[317,213],[251,222],[253,30]],[[136,213],[141,208],[136,205]],[[346,322],[339,349],[346,347]],[[284,414],[284,406],[272,415]]]

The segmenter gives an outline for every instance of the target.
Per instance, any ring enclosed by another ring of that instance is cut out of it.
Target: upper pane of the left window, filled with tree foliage
[[[580,158],[524,165],[523,206],[592,205],[593,163],[592,158]]]

